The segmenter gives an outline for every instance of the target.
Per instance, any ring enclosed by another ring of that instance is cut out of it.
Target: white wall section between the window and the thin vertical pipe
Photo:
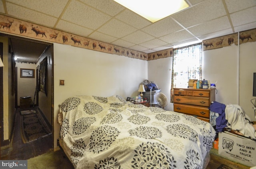
[[[202,78],[216,83],[215,100],[238,104],[238,46],[203,51]]]

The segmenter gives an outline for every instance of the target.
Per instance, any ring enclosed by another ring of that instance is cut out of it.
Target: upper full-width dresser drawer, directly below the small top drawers
[[[177,96],[174,95],[174,103],[191,104],[197,106],[210,106],[210,99],[206,97]]]

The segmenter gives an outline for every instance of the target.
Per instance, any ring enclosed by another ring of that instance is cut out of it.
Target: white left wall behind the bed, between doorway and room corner
[[[59,104],[76,95],[136,96],[148,63],[120,55],[54,43],[54,147],[59,138]],[[59,81],[65,85],[60,86]]]

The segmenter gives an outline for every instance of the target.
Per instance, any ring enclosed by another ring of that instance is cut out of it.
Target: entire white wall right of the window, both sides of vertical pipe
[[[252,96],[253,73],[256,72],[256,42],[231,45],[204,51],[203,78],[218,81],[216,101],[238,104],[255,121]],[[238,73],[239,72],[239,73]]]

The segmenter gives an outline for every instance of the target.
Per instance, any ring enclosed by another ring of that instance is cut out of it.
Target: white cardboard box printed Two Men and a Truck
[[[256,166],[256,141],[225,131],[219,133],[218,147],[220,155],[249,167]]]

